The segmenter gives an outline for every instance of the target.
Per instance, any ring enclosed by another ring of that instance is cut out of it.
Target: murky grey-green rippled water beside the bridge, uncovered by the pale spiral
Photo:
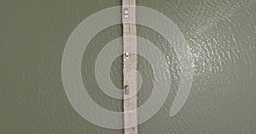
[[[0,133],[120,134],[84,120],[68,102],[61,82],[61,57],[73,29],[103,8],[121,1],[0,2]],[[150,133],[256,132],[256,2],[253,0],[183,1],[138,0],[169,17],[189,42],[195,68],[193,86],[183,109],[169,116],[179,84],[179,61],[157,32],[139,25],[142,36],[165,53],[170,66],[171,91],[160,111],[139,126]],[[84,52],[82,73],[91,98],[105,109],[122,110],[122,101],[108,98],[94,76],[96,55],[122,36],[121,25],[99,33]],[[122,47],[119,47],[122,51]],[[143,75],[139,105],[152,92],[153,70],[139,58]],[[122,87],[122,59],[114,61],[111,78]]]

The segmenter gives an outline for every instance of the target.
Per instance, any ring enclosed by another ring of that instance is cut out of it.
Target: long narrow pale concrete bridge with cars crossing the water
[[[137,134],[136,0],[123,0],[124,133]],[[131,110],[135,111],[131,112]]]

